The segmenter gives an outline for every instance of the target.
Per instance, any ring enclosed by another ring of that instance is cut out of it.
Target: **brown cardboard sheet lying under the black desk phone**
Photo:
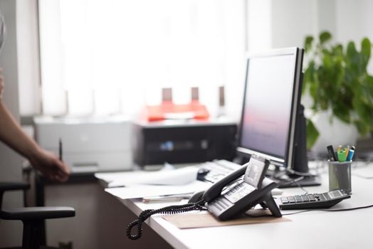
[[[255,209],[248,211],[248,213],[251,216],[242,216],[241,218],[236,218],[231,221],[219,221],[211,213],[182,213],[172,216],[162,216],[162,218],[181,229],[291,221],[284,217],[276,218],[274,216],[269,216],[270,212],[268,210],[263,211]],[[268,216],[263,216],[263,214],[268,214]]]

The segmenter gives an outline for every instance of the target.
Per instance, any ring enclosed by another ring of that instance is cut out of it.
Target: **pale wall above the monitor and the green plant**
[[[335,41],[344,45],[354,41],[357,48],[364,37],[373,41],[371,0],[272,0],[269,8],[272,48],[302,47],[305,36],[325,30]]]

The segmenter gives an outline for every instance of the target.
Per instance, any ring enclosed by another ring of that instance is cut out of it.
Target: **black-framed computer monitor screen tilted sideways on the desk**
[[[248,57],[238,152],[292,163],[302,59],[300,48]]]

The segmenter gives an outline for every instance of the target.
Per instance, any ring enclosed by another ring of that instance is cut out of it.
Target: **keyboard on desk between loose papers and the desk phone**
[[[197,166],[200,167],[198,179],[200,181],[209,181],[212,183],[219,181],[224,176],[231,174],[231,172],[241,167],[240,164],[235,164],[224,159],[206,161]]]

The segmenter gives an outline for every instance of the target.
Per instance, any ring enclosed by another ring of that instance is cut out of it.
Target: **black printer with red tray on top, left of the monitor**
[[[232,160],[236,132],[236,122],[221,119],[139,121],[134,124],[134,161],[152,166]]]

